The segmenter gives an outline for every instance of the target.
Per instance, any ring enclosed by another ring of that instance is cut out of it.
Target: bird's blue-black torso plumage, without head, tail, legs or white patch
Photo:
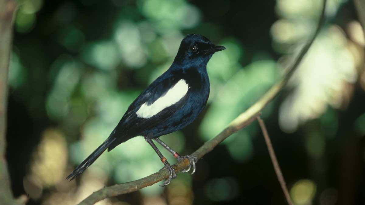
[[[153,104],[158,96],[161,96],[161,93],[156,94],[156,90],[172,87],[181,80],[186,82],[188,91],[179,101],[162,109],[155,116],[137,115],[138,112],[135,111],[139,110],[143,104],[148,104],[148,102]],[[116,138],[116,140],[109,146],[108,151],[135,136],[157,138],[183,129],[203,111],[209,92],[210,84],[206,67],[203,69],[196,67],[169,69],[147,87],[130,105],[111,134],[111,137]]]

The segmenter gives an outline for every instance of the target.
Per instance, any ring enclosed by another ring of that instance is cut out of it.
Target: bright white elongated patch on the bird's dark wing
[[[170,88],[164,96],[161,96],[151,105],[147,105],[147,102],[141,105],[136,112],[138,117],[148,119],[161,112],[163,109],[175,104],[181,98],[183,98],[188,92],[189,85],[184,79],[179,80],[172,88]]]

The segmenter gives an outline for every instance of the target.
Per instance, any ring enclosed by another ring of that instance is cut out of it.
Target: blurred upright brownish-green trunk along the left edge
[[[14,0],[0,0],[0,204],[16,204],[11,193],[6,151],[6,110],[8,98],[8,68],[12,44]]]

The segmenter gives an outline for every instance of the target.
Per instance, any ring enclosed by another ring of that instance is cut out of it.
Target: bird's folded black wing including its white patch
[[[160,125],[183,107],[189,98],[187,92],[189,85],[182,78],[172,75],[161,78],[162,76],[148,86],[128,107],[112,132],[116,140],[109,146],[108,151]]]

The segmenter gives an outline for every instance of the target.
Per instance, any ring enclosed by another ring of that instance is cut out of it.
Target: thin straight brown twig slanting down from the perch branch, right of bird
[[[288,192],[288,188],[287,188],[287,185],[285,183],[285,179],[283,177],[283,173],[281,172],[279,163],[277,162],[276,155],[275,155],[275,152],[274,152],[274,148],[271,144],[270,137],[269,137],[268,131],[266,129],[265,123],[260,118],[260,116],[257,117],[257,121],[258,121],[258,124],[260,124],[262,134],[264,135],[266,146],[268,146],[269,155],[270,155],[271,161],[273,163],[277,179],[280,182],[281,189],[283,189],[283,192],[284,192],[285,198],[287,199],[288,204],[292,205],[293,203],[291,201],[291,198],[290,198],[290,195],[289,195],[289,192]]]

